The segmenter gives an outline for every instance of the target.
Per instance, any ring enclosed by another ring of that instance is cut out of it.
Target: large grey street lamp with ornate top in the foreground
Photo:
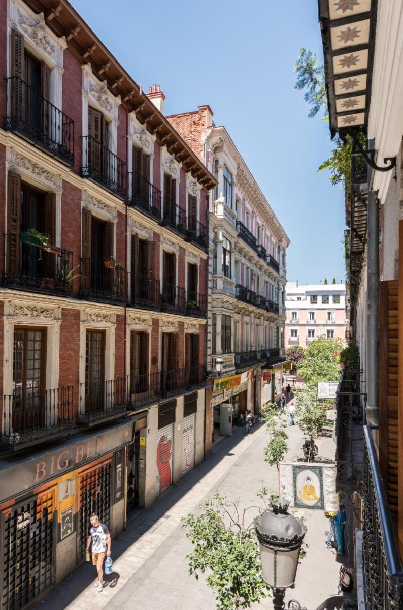
[[[280,497],[271,504],[271,509],[256,517],[254,527],[258,534],[263,580],[273,589],[273,606],[276,610],[283,610],[286,589],[295,586],[300,549],[307,528],[300,519],[287,512],[290,503],[286,498]]]

